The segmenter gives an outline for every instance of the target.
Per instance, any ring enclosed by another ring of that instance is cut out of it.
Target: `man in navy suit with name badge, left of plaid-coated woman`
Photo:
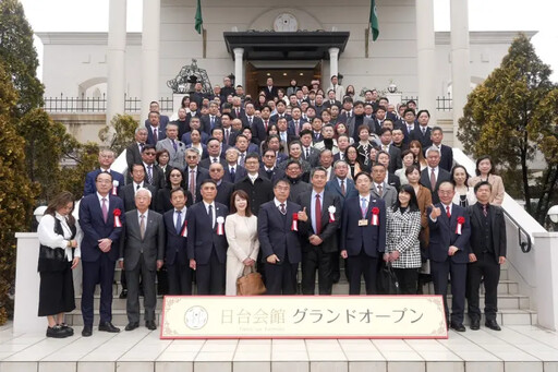
[[[361,293],[364,275],[366,295],[376,293],[378,257],[386,250],[386,204],[371,194],[372,177],[355,177],[359,196],[344,201],[341,217],[341,256],[348,259],[349,295]]]

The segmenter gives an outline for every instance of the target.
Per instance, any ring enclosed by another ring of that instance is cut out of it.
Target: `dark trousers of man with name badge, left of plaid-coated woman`
[[[350,255],[347,260],[347,266],[349,266],[349,295],[361,295],[362,276],[364,276],[366,295],[376,295],[378,259],[371,257],[362,249],[359,255]]]

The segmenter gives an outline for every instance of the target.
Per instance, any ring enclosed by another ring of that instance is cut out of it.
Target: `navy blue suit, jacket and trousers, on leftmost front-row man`
[[[114,227],[114,209],[120,209],[120,220],[124,225],[124,204],[118,196],[108,195],[109,208],[107,221],[102,219],[101,206],[97,193],[87,195],[80,203],[80,226],[83,230],[82,265],[83,265],[83,293],[82,314],[83,323],[93,326],[93,295],[95,286],[100,284],[100,322],[112,320],[112,281],[114,279],[114,264],[119,257],[119,239],[122,227]],[[99,239],[112,240],[111,249],[102,252],[99,249]]]

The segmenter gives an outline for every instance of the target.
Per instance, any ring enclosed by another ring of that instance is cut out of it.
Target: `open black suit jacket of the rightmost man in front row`
[[[477,203],[478,204],[478,203]],[[489,205],[489,218],[492,236],[490,240],[494,249],[494,260],[498,262],[499,256],[506,256],[506,219],[504,211],[500,206]],[[469,217],[471,218],[471,238],[469,239],[469,252],[474,253],[477,257],[483,254],[483,245],[485,237],[483,235],[483,218],[481,208],[476,204],[466,207]]]

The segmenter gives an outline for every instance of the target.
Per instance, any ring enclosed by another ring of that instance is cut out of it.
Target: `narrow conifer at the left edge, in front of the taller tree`
[[[13,310],[8,292],[15,274],[15,232],[26,231],[37,188],[25,171],[25,140],[15,129],[17,94],[0,63],[0,324]]]

